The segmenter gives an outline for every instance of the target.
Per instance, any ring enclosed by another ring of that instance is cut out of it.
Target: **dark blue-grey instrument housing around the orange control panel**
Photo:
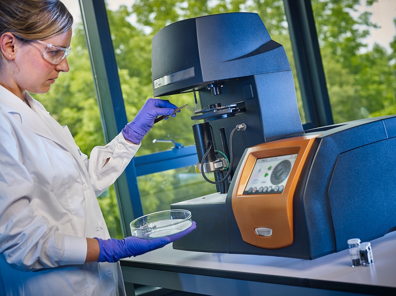
[[[215,120],[202,114],[192,117],[209,122],[218,150],[227,149],[222,145],[222,129],[229,144],[232,129],[246,124],[247,129],[236,132],[232,143],[234,174],[241,170],[240,160],[249,147],[285,137],[320,135],[296,187],[291,245],[264,249],[242,240],[231,206],[236,178],[230,178],[228,193],[171,205],[190,210],[198,225],[173,243],[175,249],[313,259],[345,249],[349,238],[371,240],[396,227],[392,198],[396,118],[304,132],[286,53],[270,38],[257,14],[224,13],[166,26],[152,39],[152,80],[155,97],[196,90],[201,109],[215,103],[243,107]],[[211,86],[217,87],[217,94]]]

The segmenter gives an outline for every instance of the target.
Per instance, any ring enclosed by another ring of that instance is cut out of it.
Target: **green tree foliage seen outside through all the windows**
[[[373,3],[374,0],[366,2],[367,5]],[[396,36],[390,43],[391,54],[379,45],[367,50],[363,40],[369,28],[377,25],[371,23],[370,13],[357,11],[359,4],[359,0],[312,0],[335,122],[396,113]],[[128,120],[152,96],[151,39],[154,34],[181,19],[236,11],[260,15],[272,39],[284,46],[293,75],[296,75],[282,0],[136,0],[129,7],[107,11]],[[94,146],[103,145],[105,141],[81,23],[75,24],[72,53],[67,60],[70,72],[61,73],[48,94],[34,97],[56,120],[69,127],[80,149],[89,156]],[[304,121],[296,76],[295,82]],[[190,120],[194,109],[192,95],[164,99],[176,105],[190,103],[190,109],[183,109],[176,118],[155,124],[137,155],[171,149],[171,144],[154,144],[153,139],[172,139],[185,146],[194,144]],[[215,191],[214,185],[204,181],[200,174],[194,174],[193,167],[141,176],[138,184],[146,214]],[[110,235],[122,236],[114,189],[110,187],[98,200]]]

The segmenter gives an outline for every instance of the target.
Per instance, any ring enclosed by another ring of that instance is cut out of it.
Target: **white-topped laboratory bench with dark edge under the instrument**
[[[396,295],[396,231],[371,241],[374,263],[348,250],[314,260],[200,253],[166,245],[120,261],[124,282],[207,295]]]

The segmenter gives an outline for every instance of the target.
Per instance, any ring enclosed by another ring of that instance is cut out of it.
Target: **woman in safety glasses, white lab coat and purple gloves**
[[[59,0],[0,0],[0,295],[125,294],[120,258],[181,234],[110,239],[96,197],[122,173],[158,115],[148,99],[115,139],[80,154],[29,94],[69,71],[72,17]],[[114,263],[116,262],[116,263]]]

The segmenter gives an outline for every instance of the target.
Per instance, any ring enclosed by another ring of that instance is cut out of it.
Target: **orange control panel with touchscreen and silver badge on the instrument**
[[[316,137],[263,143],[247,150],[232,192],[242,239],[266,249],[293,243],[293,195]]]

